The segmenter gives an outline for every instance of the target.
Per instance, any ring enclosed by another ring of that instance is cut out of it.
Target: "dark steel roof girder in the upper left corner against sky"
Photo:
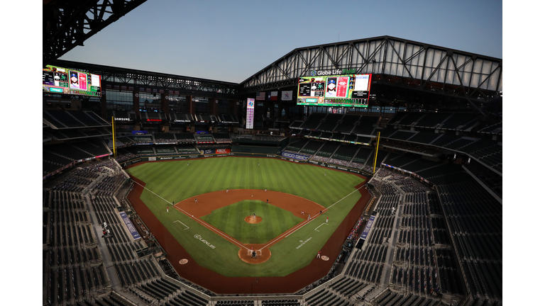
[[[145,0],[43,1],[42,64],[65,55]]]

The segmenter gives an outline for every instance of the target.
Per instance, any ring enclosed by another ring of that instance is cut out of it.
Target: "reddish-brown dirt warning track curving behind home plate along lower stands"
[[[140,183],[142,186],[145,185],[143,181],[136,179],[134,176],[131,176],[131,179]],[[360,188],[364,183],[359,184],[356,188]],[[182,278],[207,288],[216,294],[249,294],[251,292],[253,292],[253,294],[295,293],[307,285],[314,283],[314,281],[326,276],[331,269],[331,266],[335,263],[334,260],[324,261],[322,259],[313,259],[308,266],[288,274],[287,276],[259,278],[259,284],[253,285],[253,287],[252,282],[255,280],[253,277],[232,278],[222,276],[219,273],[199,266],[183,246],[177,242],[175,237],[165,229],[165,226],[157,217],[155,217],[155,215],[153,215],[150,209],[140,199],[143,192],[142,186],[135,184],[133,190],[128,195],[128,200],[131,201],[134,210],[136,210],[148,229],[153,232],[153,236],[167,253],[168,261],[172,263],[172,266]],[[266,191],[267,195],[270,192],[271,191]],[[337,256],[341,253],[346,237],[350,234],[360,215],[365,211],[371,198],[365,188],[360,188],[359,192],[362,195],[360,200],[358,200],[358,203],[354,205],[351,212],[348,213],[343,222],[341,222],[341,225],[339,225],[336,231],[331,234],[329,240],[321,248],[322,254]],[[229,193],[231,193],[231,190],[229,190]],[[265,193],[265,191],[263,191],[263,193]],[[223,191],[223,194],[225,196],[226,192]],[[271,202],[270,200],[271,199],[269,198],[269,203]],[[296,214],[297,213],[300,213],[300,211],[296,212]],[[253,249],[256,249],[256,247]],[[265,251],[265,249],[262,251]],[[188,261],[186,264],[181,265],[179,263],[180,259],[187,259]]]

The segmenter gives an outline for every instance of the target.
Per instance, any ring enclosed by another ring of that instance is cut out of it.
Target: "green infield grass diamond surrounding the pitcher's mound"
[[[245,217],[254,213],[263,221],[258,224],[244,221]],[[201,219],[245,244],[265,244],[304,221],[292,212],[260,200],[243,200],[213,210]]]

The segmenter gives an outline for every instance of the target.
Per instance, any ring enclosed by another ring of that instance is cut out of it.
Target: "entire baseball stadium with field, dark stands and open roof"
[[[76,39],[46,16],[97,7],[43,1],[43,305],[502,305],[502,59],[380,36],[239,84],[59,60],[143,2]]]

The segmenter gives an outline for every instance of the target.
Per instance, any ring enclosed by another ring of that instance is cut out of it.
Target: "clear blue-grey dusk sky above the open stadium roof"
[[[502,1],[148,0],[60,60],[240,83],[298,47],[382,35],[502,58]]]

